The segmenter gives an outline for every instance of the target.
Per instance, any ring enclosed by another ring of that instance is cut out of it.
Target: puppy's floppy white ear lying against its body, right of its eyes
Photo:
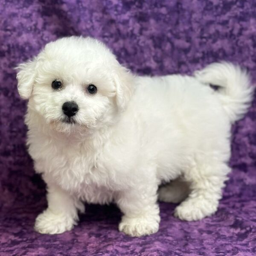
[[[125,110],[134,90],[134,76],[128,69],[119,65],[114,74],[116,84],[116,105],[120,111]]]

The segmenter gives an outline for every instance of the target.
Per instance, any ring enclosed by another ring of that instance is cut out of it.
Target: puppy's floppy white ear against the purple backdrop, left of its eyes
[[[35,81],[35,65],[36,60],[27,61],[20,64],[16,69],[20,70],[17,73],[18,80],[18,92],[22,99],[29,99],[33,90],[33,84]]]

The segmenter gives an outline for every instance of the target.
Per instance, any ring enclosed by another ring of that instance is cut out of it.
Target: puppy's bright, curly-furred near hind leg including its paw
[[[226,163],[199,161],[186,175],[191,182],[188,198],[175,209],[175,216],[186,221],[197,221],[217,211],[221,189],[230,168]]]

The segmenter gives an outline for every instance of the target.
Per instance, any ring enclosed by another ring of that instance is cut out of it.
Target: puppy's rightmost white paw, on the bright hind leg
[[[189,198],[175,209],[175,217],[183,221],[198,221],[217,211],[218,203],[206,199]]]

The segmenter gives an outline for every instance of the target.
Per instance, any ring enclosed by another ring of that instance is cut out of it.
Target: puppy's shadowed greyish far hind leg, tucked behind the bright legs
[[[161,186],[158,190],[158,200],[166,203],[180,203],[189,195],[189,183],[180,178]]]

